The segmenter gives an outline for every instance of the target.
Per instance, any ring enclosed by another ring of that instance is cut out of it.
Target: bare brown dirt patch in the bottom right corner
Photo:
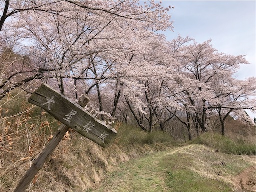
[[[256,166],[251,166],[236,176],[234,184],[239,190],[256,192]]]

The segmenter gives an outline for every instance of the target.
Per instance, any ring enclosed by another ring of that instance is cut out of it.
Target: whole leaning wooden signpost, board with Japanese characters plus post
[[[111,128],[111,126],[96,119],[93,115],[83,109],[89,102],[89,98],[84,95],[80,98],[78,104],[76,104],[43,83],[30,96],[28,102],[42,107],[63,124],[59,126],[48,145],[43,149],[33,165],[21,178],[14,192],[25,191],[34,176],[43,166],[46,158],[53,152],[68,131],[68,128],[74,129],[102,147],[107,147],[117,134],[116,130]]]

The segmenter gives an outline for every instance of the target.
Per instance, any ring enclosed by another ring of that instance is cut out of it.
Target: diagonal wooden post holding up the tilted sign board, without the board
[[[89,98],[85,95],[82,95],[82,97],[78,101],[78,104],[84,108],[88,104],[88,102],[89,102]],[[33,165],[27,170],[25,175],[21,178],[14,192],[25,191],[25,189],[30,184],[32,179],[35,177],[38,171],[42,168],[47,157],[49,157],[49,155],[57,147],[58,143],[63,139],[68,129],[69,129],[68,126],[64,125],[63,123],[58,127],[57,131],[55,132],[53,138],[49,141],[48,145],[43,149],[41,154],[34,161]]]

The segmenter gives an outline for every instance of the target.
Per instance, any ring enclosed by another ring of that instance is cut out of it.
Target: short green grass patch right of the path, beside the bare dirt
[[[165,171],[165,182],[171,192],[230,192],[229,184],[214,180],[194,172],[197,167],[190,154],[175,153],[164,156],[159,166]]]

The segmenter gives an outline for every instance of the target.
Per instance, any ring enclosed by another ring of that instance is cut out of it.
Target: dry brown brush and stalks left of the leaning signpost
[[[12,92],[13,94],[13,92]],[[36,111],[37,110],[37,111]],[[25,101],[9,94],[0,105],[0,191],[12,191],[47,143],[56,122]]]

